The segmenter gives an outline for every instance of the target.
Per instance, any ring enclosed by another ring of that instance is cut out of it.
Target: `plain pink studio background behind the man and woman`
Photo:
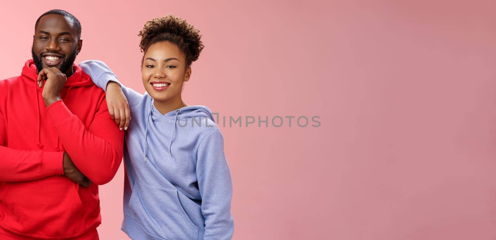
[[[168,13],[206,46],[184,91],[221,116],[320,116],[320,127],[221,127],[236,240],[496,238],[496,2],[8,1],[0,78],[37,17],[73,13],[76,62],[144,92],[137,37]],[[243,122],[244,124],[244,122]],[[100,187],[102,240],[127,239],[123,168]]]

